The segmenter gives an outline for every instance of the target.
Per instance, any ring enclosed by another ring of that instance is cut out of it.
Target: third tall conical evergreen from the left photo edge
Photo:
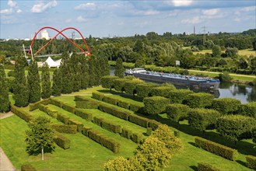
[[[38,67],[37,67],[36,61],[32,61],[30,63],[30,68],[27,75],[27,86],[29,90],[29,102],[35,103],[40,101],[40,98],[41,98],[40,75],[38,73]]]

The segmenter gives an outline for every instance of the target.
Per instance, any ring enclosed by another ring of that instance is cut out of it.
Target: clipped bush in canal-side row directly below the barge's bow
[[[185,104],[191,108],[206,107],[212,105],[214,96],[206,92],[191,93],[188,95],[188,99],[185,99]]]

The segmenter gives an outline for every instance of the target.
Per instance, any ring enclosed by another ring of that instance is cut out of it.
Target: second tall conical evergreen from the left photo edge
[[[13,99],[16,106],[26,106],[29,100],[23,57],[17,58],[14,68]]]

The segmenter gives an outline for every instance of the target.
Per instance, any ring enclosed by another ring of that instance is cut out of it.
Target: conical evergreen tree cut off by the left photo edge
[[[0,112],[8,112],[10,109],[8,90],[4,66],[0,64]]]

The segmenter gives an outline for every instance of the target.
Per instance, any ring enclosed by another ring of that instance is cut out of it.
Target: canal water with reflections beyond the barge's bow
[[[110,68],[110,75],[114,75],[114,67]],[[180,87],[177,87],[177,89],[180,89]],[[198,92],[197,90],[193,91]],[[230,97],[239,99],[241,103],[256,102],[256,86],[226,82],[221,83],[219,89],[200,90],[200,92],[212,93],[215,98]]]

